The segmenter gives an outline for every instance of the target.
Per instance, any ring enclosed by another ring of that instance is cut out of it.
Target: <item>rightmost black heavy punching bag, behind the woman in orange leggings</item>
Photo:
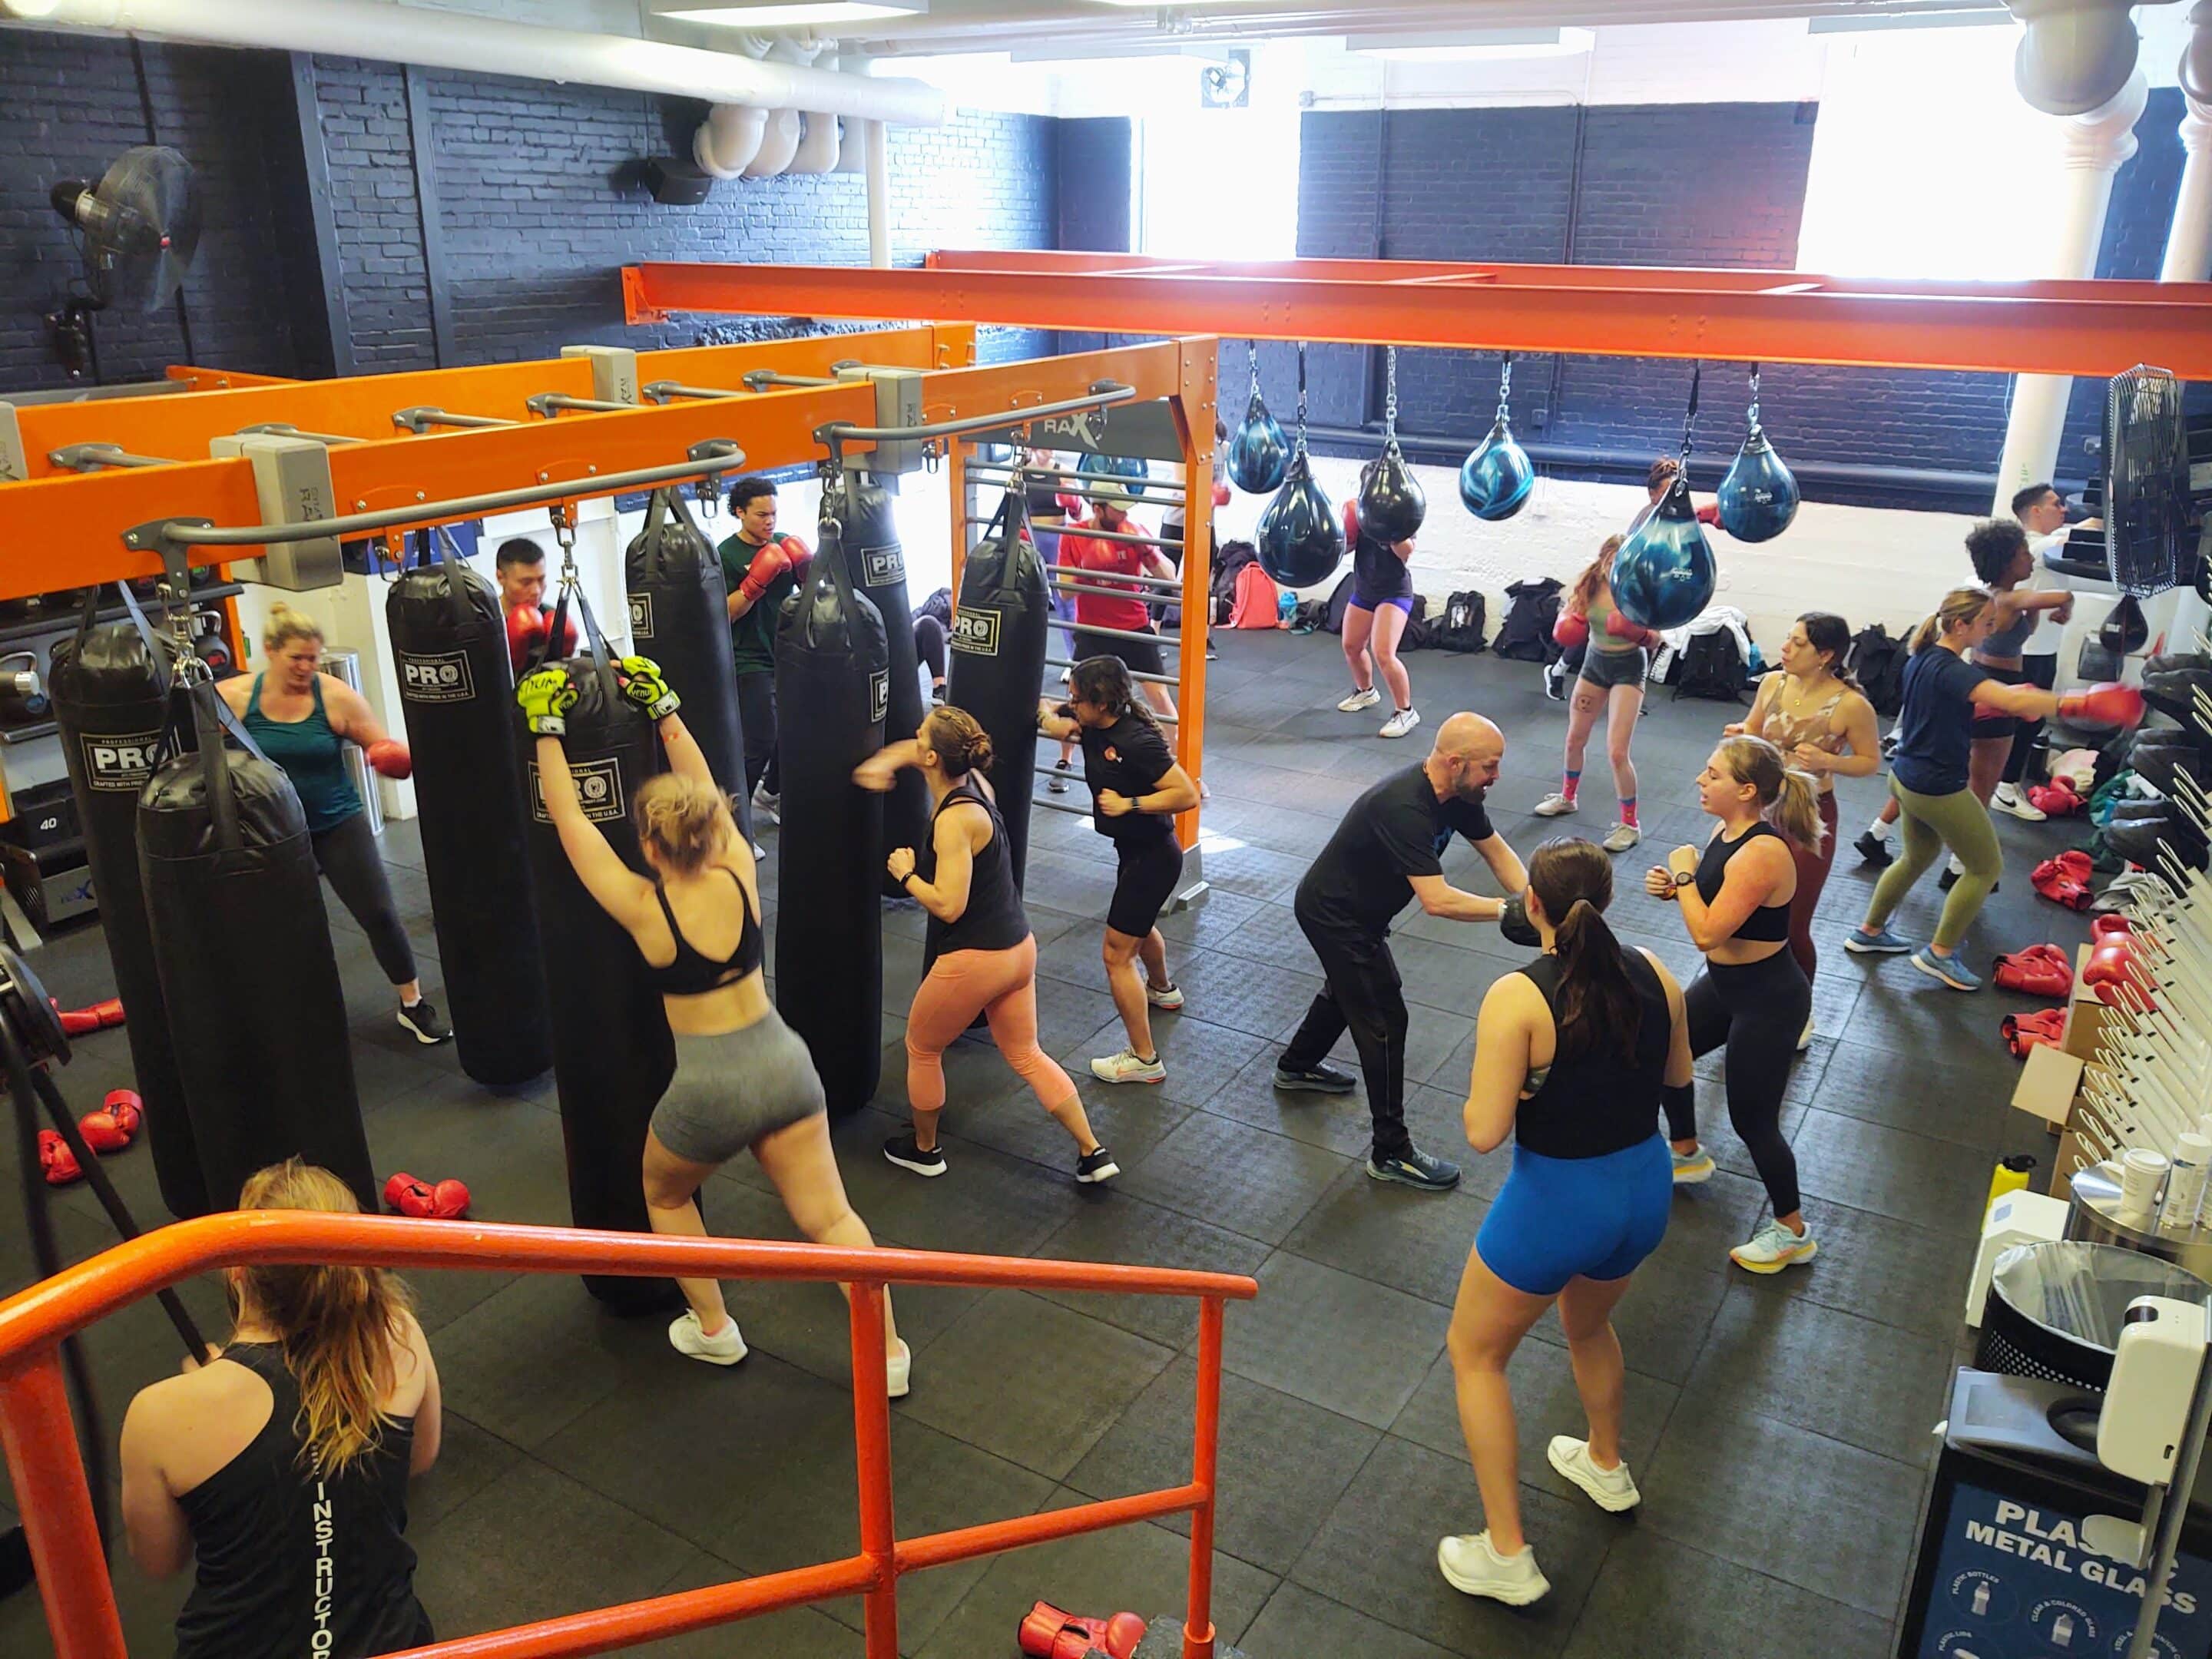
[[[1037,697],[1051,604],[1020,491],[1006,491],[960,571],[947,697],[991,734],[991,790],[1006,823],[1013,880],[1029,869],[1029,799],[1037,768]]]

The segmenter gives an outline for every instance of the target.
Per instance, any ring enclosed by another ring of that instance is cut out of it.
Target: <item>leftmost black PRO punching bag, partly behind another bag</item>
[[[97,591],[95,591],[97,593]],[[122,588],[131,593],[128,586]],[[146,1102],[146,1137],[161,1203],[186,1221],[206,1214],[208,1181],[192,1148],[192,1119],[168,1037],[168,1004],[153,960],[146,925],[146,887],[137,865],[137,799],[153,776],[168,712],[168,679],[177,641],[146,626],[133,604],[126,622],[93,626],[93,602],[77,633],[53,653],[46,684],[53,719],[62,728],[62,757],[84,825],[84,856],[100,894],[100,927],[115,964],[115,993],[124,1002],[131,1071]]]

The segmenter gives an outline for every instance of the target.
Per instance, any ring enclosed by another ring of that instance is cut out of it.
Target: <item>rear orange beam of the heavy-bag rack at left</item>
[[[750,369],[825,376],[832,363],[845,358],[907,369],[962,367],[975,361],[975,330],[967,325],[896,327],[639,352],[637,383],[686,380],[741,392],[741,376]],[[175,369],[170,374],[184,378]],[[186,374],[208,372],[190,369]],[[394,411],[429,405],[453,414],[538,420],[524,407],[524,398],[540,392],[588,398],[591,363],[584,358],[538,358],[531,363],[482,363],[467,369],[361,374],[343,380],[257,380],[246,376],[246,383],[234,380],[232,389],[27,405],[15,411],[15,425],[22,434],[29,471],[33,478],[42,478],[58,471],[49,465],[46,453],[64,445],[111,442],[137,456],[188,462],[206,460],[212,438],[228,438],[246,427],[268,422],[361,440],[414,442],[414,434],[392,425]],[[562,422],[575,418],[575,414],[560,416]]]

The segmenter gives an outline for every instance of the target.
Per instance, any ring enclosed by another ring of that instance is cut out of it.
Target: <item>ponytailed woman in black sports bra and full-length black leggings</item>
[[[1774,1214],[1730,1261],[1778,1274],[1820,1248],[1798,1203],[1796,1155],[1783,1139],[1783,1091],[1798,1031],[1812,1013],[1812,982],[1790,951],[1790,900],[1796,898],[1792,845],[1820,849],[1820,796],[1812,772],[1783,761],[1763,737],[1725,737],[1697,779],[1699,805],[1721,821],[1703,852],[1677,847],[1666,869],[1644,878],[1655,898],[1672,898],[1705,953],[1705,971],[1683,993],[1690,1048],[1728,1046],[1728,1121],[1752,1152]],[[1712,1179],[1712,1157],[1697,1144],[1697,1097],[1666,1099],[1674,1144],[1674,1183]]]

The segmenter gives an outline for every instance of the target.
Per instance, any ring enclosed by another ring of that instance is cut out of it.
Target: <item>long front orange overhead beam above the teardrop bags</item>
[[[1860,283],[1801,272],[1398,265],[1356,274],[1071,270],[1053,257],[920,270],[633,265],[633,321],[675,312],[956,316],[1119,334],[2112,376],[2212,378],[2212,283]],[[1338,261],[1292,261],[1292,265]],[[1387,279],[1383,272],[1389,272]],[[1453,281],[1455,276],[1480,281]],[[1422,281],[1442,276],[1447,281]]]

